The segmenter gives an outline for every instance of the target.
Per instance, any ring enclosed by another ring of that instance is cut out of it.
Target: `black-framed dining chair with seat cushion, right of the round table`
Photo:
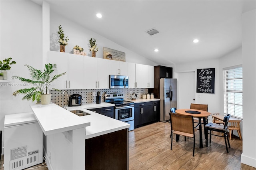
[[[224,119],[223,119],[224,125],[222,125],[222,124],[219,125],[217,123],[208,123],[207,125],[205,125],[206,132],[208,134],[210,134],[210,143],[211,143],[212,135],[220,136],[220,137],[224,137],[225,138],[225,144],[226,144],[227,153],[228,153],[228,146],[230,148],[230,143],[229,143],[229,140],[228,140],[228,133],[227,133],[229,118],[230,118],[230,114],[228,114],[228,115],[226,115],[224,117]],[[212,134],[212,131],[221,132],[221,133],[223,133],[223,136],[222,135],[218,135],[218,134]],[[228,146],[227,146],[227,140],[228,140]],[[208,147],[208,135],[206,136],[206,147]]]

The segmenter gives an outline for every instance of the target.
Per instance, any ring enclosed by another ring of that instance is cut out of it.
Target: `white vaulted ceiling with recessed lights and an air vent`
[[[50,10],[159,65],[214,59],[240,47],[242,13],[256,6],[254,0],[46,1]],[[146,33],[153,28],[159,33]]]

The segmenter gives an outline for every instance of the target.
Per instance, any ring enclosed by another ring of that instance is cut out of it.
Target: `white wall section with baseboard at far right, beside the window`
[[[256,10],[242,14],[243,153],[241,162],[256,168]]]

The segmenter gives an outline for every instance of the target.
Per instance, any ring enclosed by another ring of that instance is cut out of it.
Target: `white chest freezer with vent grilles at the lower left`
[[[4,118],[4,170],[22,170],[43,161],[43,132],[34,113]]]

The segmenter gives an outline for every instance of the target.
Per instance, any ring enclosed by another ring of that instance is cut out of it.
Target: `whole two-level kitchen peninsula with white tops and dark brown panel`
[[[87,110],[107,106],[112,104],[67,107],[68,110],[53,103],[31,105],[44,132],[44,155],[49,170],[106,168],[112,166],[113,158],[122,158],[116,165],[128,168],[130,125]],[[90,115],[79,117],[71,113],[72,110],[81,110]]]

